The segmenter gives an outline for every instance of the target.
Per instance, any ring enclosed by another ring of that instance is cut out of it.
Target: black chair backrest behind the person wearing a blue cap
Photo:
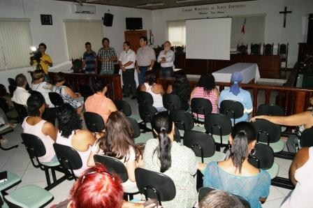
[[[243,116],[243,105],[238,101],[221,101],[219,113],[226,114],[231,119],[238,119]]]

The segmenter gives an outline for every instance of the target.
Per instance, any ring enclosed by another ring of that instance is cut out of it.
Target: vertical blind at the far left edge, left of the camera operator
[[[0,19],[0,70],[29,66],[29,20]]]

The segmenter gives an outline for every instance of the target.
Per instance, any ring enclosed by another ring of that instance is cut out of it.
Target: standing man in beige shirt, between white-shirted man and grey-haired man
[[[155,62],[155,52],[152,47],[147,45],[147,37],[139,38],[140,48],[137,50],[137,70],[139,84],[145,83],[145,72],[152,70]]]

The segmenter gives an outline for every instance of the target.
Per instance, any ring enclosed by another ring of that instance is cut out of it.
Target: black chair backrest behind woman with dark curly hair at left
[[[82,168],[82,158],[80,158],[78,151],[73,149],[73,147],[57,143],[53,144],[53,148],[60,165],[63,168],[71,170],[71,173],[75,177],[73,170]]]

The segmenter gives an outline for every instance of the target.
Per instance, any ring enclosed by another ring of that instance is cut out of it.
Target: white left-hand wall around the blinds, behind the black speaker
[[[110,39],[110,46],[115,47],[117,54],[122,52],[125,17],[143,17],[143,29],[152,29],[152,11],[137,8],[96,5],[96,15],[74,14],[71,10],[73,2],[52,0],[0,0],[0,18],[30,18],[31,38],[33,45],[43,42],[47,45],[47,53],[52,57],[54,65],[68,61],[64,19],[101,20],[104,13],[114,15],[112,27],[103,26],[103,34]],[[41,25],[41,14],[52,15],[52,26]],[[101,45],[101,40],[99,40]],[[8,77],[15,77],[25,69],[0,72],[0,83],[7,84]]]

